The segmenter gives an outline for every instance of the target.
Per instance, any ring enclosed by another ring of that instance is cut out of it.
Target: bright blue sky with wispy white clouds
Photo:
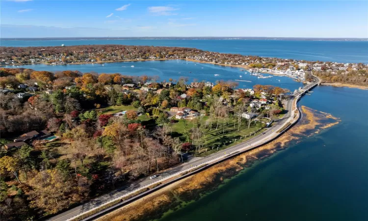
[[[368,1],[0,0],[0,37],[368,38]]]

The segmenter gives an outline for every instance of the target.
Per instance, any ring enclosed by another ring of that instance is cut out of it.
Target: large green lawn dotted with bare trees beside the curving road
[[[208,119],[208,116],[204,117],[203,121],[206,121]],[[179,120],[178,123],[170,124],[172,128],[172,135],[173,137],[180,137],[182,141],[185,140],[185,136],[183,135],[183,132],[185,130],[185,124],[187,124],[187,128],[191,128],[193,126],[193,121],[190,120]],[[216,130],[216,122],[212,121],[212,130],[210,128],[206,129],[206,142],[203,146],[203,149],[207,149],[207,152],[201,152],[197,153],[196,156],[206,156],[211,153],[217,152],[217,147],[219,146],[218,150],[226,149],[232,145],[244,142],[247,139],[250,139],[254,137],[254,135],[250,136],[251,133],[256,132],[257,130],[260,130],[260,127],[257,126],[251,126],[248,128],[248,125],[243,123],[241,124],[239,131],[234,130],[234,121],[229,119],[229,124],[224,126],[222,121],[220,121],[218,125],[218,129]],[[262,129],[259,132],[256,133],[256,135],[262,133],[266,129]],[[240,139],[241,138],[241,139]],[[237,140],[237,141],[235,141]]]

